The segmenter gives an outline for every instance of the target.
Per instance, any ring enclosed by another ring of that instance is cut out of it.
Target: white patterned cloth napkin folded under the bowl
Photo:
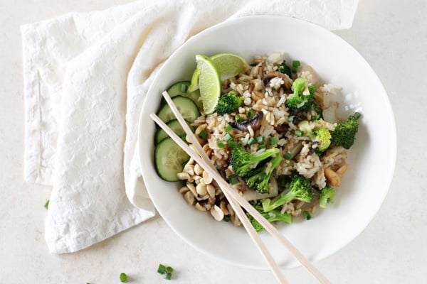
[[[154,216],[139,114],[159,66],[191,35],[255,14],[349,28],[356,8],[357,0],[142,0],[21,26],[25,178],[52,186],[49,250],[85,249]]]

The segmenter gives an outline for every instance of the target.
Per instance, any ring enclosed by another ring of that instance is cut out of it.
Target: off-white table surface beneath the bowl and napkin
[[[179,239],[159,215],[65,255],[48,253],[44,221],[51,188],[23,181],[23,23],[129,0],[0,0],[0,283],[275,283],[269,271],[229,266]],[[360,0],[352,28],[336,32],[370,63],[394,109],[398,155],[389,194],[354,241],[315,263],[332,283],[427,283],[427,2]],[[387,141],[384,141],[387,143]],[[378,169],[381,175],[381,169]],[[363,204],[361,204],[363,207]],[[317,283],[304,268],[290,283]]]

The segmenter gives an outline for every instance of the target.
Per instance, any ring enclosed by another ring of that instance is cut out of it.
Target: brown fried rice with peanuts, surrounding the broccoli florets
[[[233,129],[232,135],[234,140],[241,143],[250,153],[265,151],[265,148],[260,148],[260,143],[251,143],[251,145],[248,143],[252,137],[258,136],[264,136],[265,139],[275,137],[275,141],[277,141],[275,147],[280,148],[281,155],[291,153],[292,159],[283,159],[275,168],[270,181],[275,183],[273,187],[277,187],[275,180],[280,176],[292,175],[292,173],[299,173],[309,179],[313,187],[317,189],[322,189],[327,184],[337,186],[339,181],[337,184],[334,178],[339,179],[347,169],[347,150],[342,146],[332,145],[325,153],[317,155],[314,151],[316,145],[310,141],[310,138],[295,135],[300,119],[297,115],[292,114],[285,105],[286,99],[292,95],[290,89],[292,78],[278,72],[278,65],[281,62],[283,62],[283,55],[280,53],[256,56],[254,63],[247,65],[244,72],[224,80],[222,82],[223,92],[237,91],[242,97],[243,104],[238,111],[231,114],[222,116],[216,113],[201,114],[192,124],[196,129],[196,136],[201,131],[207,132],[206,138],[199,138],[199,141],[218,172],[224,178],[229,178],[234,174],[233,168],[229,164],[231,148],[227,146],[227,143],[224,147],[218,146],[217,142],[224,141],[224,136],[227,135],[226,127],[236,121],[237,114],[244,121],[250,109],[255,112],[262,111],[263,119],[258,129],[253,130],[251,126],[244,131]],[[321,82],[312,67],[308,65],[299,67],[297,73],[293,75],[293,79],[295,80],[296,77],[304,77],[307,84],[315,84],[315,102],[322,109],[329,107],[327,97],[334,92],[334,86]],[[308,111],[304,115],[312,127],[324,127],[334,131],[335,124],[315,119],[317,115],[315,111]],[[179,189],[179,192],[187,203],[199,211],[210,212],[218,221],[230,220],[236,226],[241,225],[221,189],[194,160],[190,159],[186,163],[183,172],[179,173],[178,177],[184,181],[184,186]],[[274,197],[280,193],[280,190],[283,190],[278,188],[270,195],[261,195],[247,187],[241,179],[232,186],[246,200],[263,200],[266,197]],[[314,214],[317,204],[316,198],[310,203],[291,200],[279,209],[281,212],[287,212],[296,217],[304,211]]]

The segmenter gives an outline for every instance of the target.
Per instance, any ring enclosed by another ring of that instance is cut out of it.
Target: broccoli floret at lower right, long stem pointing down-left
[[[290,200],[301,200],[309,203],[312,201],[312,197],[313,188],[310,180],[302,175],[295,175],[290,181],[289,190],[283,191],[273,200],[269,198],[263,200],[263,209],[265,212],[269,212]]]

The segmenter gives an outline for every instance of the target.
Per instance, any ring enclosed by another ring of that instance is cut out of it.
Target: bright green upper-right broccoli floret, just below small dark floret
[[[307,87],[310,93],[303,94],[302,92],[304,91],[305,83],[307,83],[307,80],[301,77],[295,79],[292,83],[291,89],[293,94],[285,102],[286,106],[291,110],[304,111],[312,104],[315,97],[316,86],[314,84],[310,84]]]

